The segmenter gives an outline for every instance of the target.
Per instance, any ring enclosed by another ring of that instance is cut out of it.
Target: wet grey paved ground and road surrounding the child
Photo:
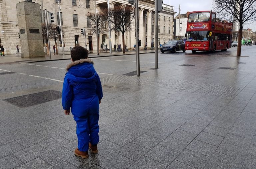
[[[0,168],[254,169],[255,49],[159,53],[156,70],[154,53],[141,54],[140,77],[135,55],[94,58],[104,96],[88,159],[73,153],[72,115],[45,94],[61,91],[70,60],[2,64]],[[17,96],[19,106],[4,101]]]

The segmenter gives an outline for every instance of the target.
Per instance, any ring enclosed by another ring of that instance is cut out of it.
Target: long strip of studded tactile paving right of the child
[[[101,79],[102,85],[107,83],[123,83],[133,85],[146,85],[157,88],[179,89],[188,92],[197,92],[213,96],[231,97],[237,94],[239,90],[235,86],[213,85],[208,83],[199,83],[186,80],[160,79],[147,77],[131,76],[109,76]]]

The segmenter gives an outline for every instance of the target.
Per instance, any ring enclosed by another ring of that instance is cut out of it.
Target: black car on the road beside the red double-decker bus
[[[165,45],[161,46],[160,51],[164,52],[177,52],[183,51],[185,52],[185,43],[183,41],[168,41]]]

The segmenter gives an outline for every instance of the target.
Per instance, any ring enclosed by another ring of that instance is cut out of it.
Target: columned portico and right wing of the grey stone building
[[[116,5],[131,6],[128,0],[111,0],[110,8]],[[107,0],[96,0],[96,10],[101,11],[107,8]],[[134,6],[133,6],[134,8]],[[158,13],[158,46],[173,38],[173,18],[176,12],[173,6],[163,4],[163,11]],[[153,0],[139,0],[139,39],[141,46],[147,43],[150,47],[151,42],[154,42],[155,30],[155,1]],[[112,47],[114,44],[122,44],[122,33],[119,31],[111,31]],[[136,43],[135,38],[135,18],[132,20],[132,30],[125,33],[126,46],[133,48]],[[100,43],[105,45],[109,44],[109,33],[106,32],[100,35]],[[155,45],[154,45],[155,46]]]

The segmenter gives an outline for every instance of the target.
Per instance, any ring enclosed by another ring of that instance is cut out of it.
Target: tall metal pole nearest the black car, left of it
[[[158,12],[157,0],[155,0],[155,69],[158,69]]]

